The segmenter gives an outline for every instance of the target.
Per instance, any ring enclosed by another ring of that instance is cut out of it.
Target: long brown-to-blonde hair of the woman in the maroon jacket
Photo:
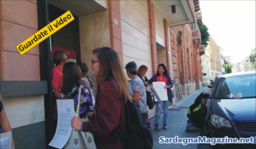
[[[100,72],[96,76],[96,83],[100,85],[102,92],[104,93],[103,82],[110,79],[114,81],[115,88],[118,94],[124,97],[125,103],[127,100],[132,100],[128,89],[128,81],[122,71],[117,53],[110,47],[100,47],[94,49],[93,54],[97,54],[100,64]]]

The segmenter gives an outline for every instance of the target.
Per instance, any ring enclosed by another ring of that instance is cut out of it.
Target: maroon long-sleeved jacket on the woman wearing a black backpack
[[[97,149],[124,148],[125,136],[124,104],[121,95],[115,89],[115,83],[106,80],[104,93],[97,88],[94,119],[83,122],[83,131],[91,132]]]

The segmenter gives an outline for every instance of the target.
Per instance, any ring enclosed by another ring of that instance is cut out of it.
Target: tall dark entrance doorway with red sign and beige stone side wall
[[[48,144],[55,133],[51,85],[51,71],[54,67],[52,54],[58,50],[64,51],[70,61],[77,64],[85,62],[89,66],[93,49],[110,46],[109,16],[107,1],[48,0],[38,1],[37,4],[39,29],[68,10],[74,17],[72,22],[39,45],[41,80],[46,80],[48,84],[48,93],[44,96],[46,148],[51,148]]]

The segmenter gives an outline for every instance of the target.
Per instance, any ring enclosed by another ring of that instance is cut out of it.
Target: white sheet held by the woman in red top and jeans
[[[153,82],[153,88],[161,101],[168,100],[167,89],[165,89],[164,86],[165,82]],[[156,96],[155,101],[158,101]]]

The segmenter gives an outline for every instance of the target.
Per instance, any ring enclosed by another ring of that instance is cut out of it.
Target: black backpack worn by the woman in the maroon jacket
[[[150,123],[145,124],[139,106],[136,102],[127,101],[125,110],[125,140],[126,149],[152,149],[153,137]]]

